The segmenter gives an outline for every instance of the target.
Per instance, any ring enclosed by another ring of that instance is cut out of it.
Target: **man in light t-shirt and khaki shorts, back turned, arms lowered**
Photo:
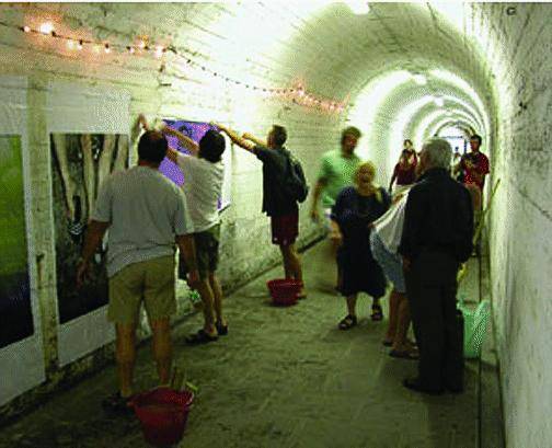
[[[95,248],[108,234],[107,319],[116,328],[119,391],[104,407],[128,412],[136,359],[136,326],[143,301],[153,333],[153,357],[160,383],[168,383],[172,364],[170,318],[176,311],[175,242],[189,267],[189,283],[199,276],[184,193],[159,172],[166,154],[161,133],[147,131],[138,143],[138,165],[112,174],[101,186],[77,269],[82,285]]]

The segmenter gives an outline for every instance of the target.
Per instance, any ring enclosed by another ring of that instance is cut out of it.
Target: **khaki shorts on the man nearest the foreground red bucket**
[[[138,322],[143,301],[148,319],[157,321],[176,312],[174,256],[130,264],[110,278],[110,322]]]

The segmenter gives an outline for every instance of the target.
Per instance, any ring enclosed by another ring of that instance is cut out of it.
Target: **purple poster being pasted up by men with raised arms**
[[[209,129],[217,129],[215,126],[210,125],[209,123],[203,123],[203,122],[189,122],[189,120],[184,120],[184,119],[163,119],[166,125],[183,135],[189,137],[192,140],[195,142],[199,142],[202,137],[209,130]],[[179,139],[173,136],[166,136],[166,139],[169,141],[169,146],[179,152],[183,153],[189,153],[189,151],[183,147]],[[222,194],[221,197],[219,197],[218,200],[218,209],[222,210],[226,207],[230,205],[230,149],[229,146],[227,145],[227,149],[225,150],[222,154],[222,163],[225,164],[225,183],[222,185]],[[183,186],[186,182],[184,179],[184,174],[181,171],[181,169],[176,165],[176,163],[172,162],[169,159],[164,159],[161,162],[161,165],[159,166],[159,170],[171,181],[173,181],[176,185]]]

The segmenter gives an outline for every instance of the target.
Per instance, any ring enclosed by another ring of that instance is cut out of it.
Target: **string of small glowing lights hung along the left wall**
[[[133,45],[122,45],[122,44],[112,44],[108,42],[100,42],[92,41],[80,37],[71,37],[64,34],[59,34],[55,31],[54,25],[50,22],[43,23],[38,28],[33,28],[31,26],[18,26],[11,25],[9,23],[0,21],[0,25],[9,28],[19,30],[25,34],[39,34],[42,36],[51,37],[60,41],[67,42],[67,46],[69,49],[76,49],[81,51],[85,46],[92,47],[94,50],[99,51],[103,48],[104,53],[110,54],[113,51],[117,51],[119,54],[129,54],[129,55],[140,55],[140,54],[153,54],[156,58],[163,57],[166,51],[173,53],[176,57],[185,61],[188,66],[194,67],[198,70],[202,70],[206,73],[209,73],[214,78],[218,78],[223,80],[228,84],[234,84],[238,87],[242,87],[248,90],[252,90],[260,93],[273,94],[283,97],[287,97],[292,101],[295,104],[299,104],[302,106],[314,107],[321,111],[326,111],[331,113],[341,113],[345,108],[345,104],[343,102],[337,102],[330,99],[324,99],[317,96],[310,92],[307,92],[304,88],[300,84],[297,84],[292,88],[281,89],[281,88],[267,88],[261,87],[256,84],[252,84],[250,82],[240,81],[238,79],[228,77],[219,71],[212,70],[207,66],[204,66],[200,62],[195,61],[191,57],[191,51],[186,49],[177,49],[173,45],[151,45],[147,38],[140,38],[136,44]]]

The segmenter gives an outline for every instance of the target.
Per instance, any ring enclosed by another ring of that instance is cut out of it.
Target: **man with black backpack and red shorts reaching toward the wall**
[[[272,240],[280,249],[286,278],[302,282],[301,261],[295,241],[299,233],[299,208],[309,193],[301,164],[284,148],[286,129],[274,125],[266,142],[251,134],[238,134],[216,126],[239,147],[253,152],[263,162],[263,211],[271,217]],[[298,297],[304,298],[304,287]]]

